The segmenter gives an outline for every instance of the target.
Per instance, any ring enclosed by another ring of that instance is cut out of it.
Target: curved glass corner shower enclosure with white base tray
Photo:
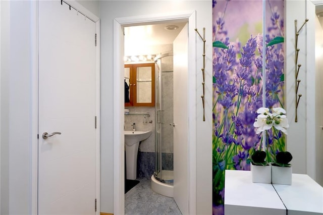
[[[155,172],[152,189],[173,196],[173,53],[155,58]]]

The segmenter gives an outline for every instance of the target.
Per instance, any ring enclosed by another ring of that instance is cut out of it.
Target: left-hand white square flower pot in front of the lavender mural
[[[252,175],[252,182],[254,183],[267,183],[272,182],[272,168],[268,166],[256,166],[250,164],[250,170]]]

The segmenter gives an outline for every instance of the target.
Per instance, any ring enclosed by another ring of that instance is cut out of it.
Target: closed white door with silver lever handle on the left
[[[95,214],[94,37],[64,2],[39,1],[38,214]]]

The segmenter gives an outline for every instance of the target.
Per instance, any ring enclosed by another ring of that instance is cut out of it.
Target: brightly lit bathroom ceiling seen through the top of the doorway
[[[185,22],[125,27],[125,56],[143,55],[147,46],[172,44]],[[167,30],[166,26],[178,26]]]

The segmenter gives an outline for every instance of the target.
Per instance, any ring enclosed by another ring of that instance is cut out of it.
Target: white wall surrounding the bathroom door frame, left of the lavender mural
[[[201,102],[203,42],[196,37],[196,108],[197,108],[197,214],[211,214],[212,201],[212,2],[208,1],[102,1],[101,19],[101,212],[113,213],[113,19],[149,14],[196,10],[196,27],[206,28],[205,116]],[[207,155],[208,154],[208,155]]]

